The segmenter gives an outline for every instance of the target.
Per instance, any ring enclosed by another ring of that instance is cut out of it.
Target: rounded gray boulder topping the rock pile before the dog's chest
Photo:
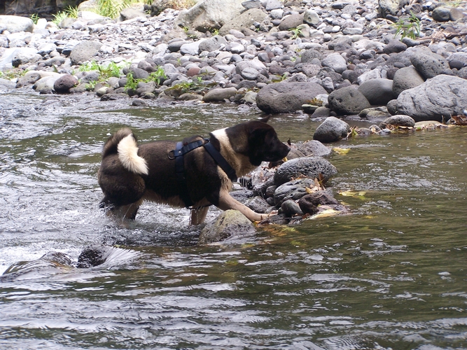
[[[309,179],[319,179],[322,174],[325,181],[337,174],[337,169],[328,160],[321,157],[304,157],[288,160],[281,165],[274,174],[274,183],[280,186],[282,183],[291,181],[299,176]]]

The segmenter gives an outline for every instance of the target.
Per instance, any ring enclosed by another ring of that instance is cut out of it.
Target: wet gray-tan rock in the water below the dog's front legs
[[[256,230],[246,216],[237,210],[226,210],[200,232],[200,244],[223,241],[229,237],[254,235]]]

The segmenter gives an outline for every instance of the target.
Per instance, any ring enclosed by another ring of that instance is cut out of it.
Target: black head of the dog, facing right
[[[258,166],[263,161],[277,162],[290,151],[267,120],[269,117],[251,120],[225,130],[234,150],[247,155],[252,165]]]

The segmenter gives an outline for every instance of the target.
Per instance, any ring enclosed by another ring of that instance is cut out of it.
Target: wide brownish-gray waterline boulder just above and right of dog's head
[[[256,105],[265,113],[294,112],[318,94],[326,94],[326,90],[317,83],[274,83],[258,92]]]

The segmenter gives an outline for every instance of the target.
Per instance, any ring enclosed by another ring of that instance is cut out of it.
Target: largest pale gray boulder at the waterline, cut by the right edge
[[[399,114],[411,116],[416,122],[448,120],[467,109],[467,80],[445,74],[401,92],[397,98]]]

